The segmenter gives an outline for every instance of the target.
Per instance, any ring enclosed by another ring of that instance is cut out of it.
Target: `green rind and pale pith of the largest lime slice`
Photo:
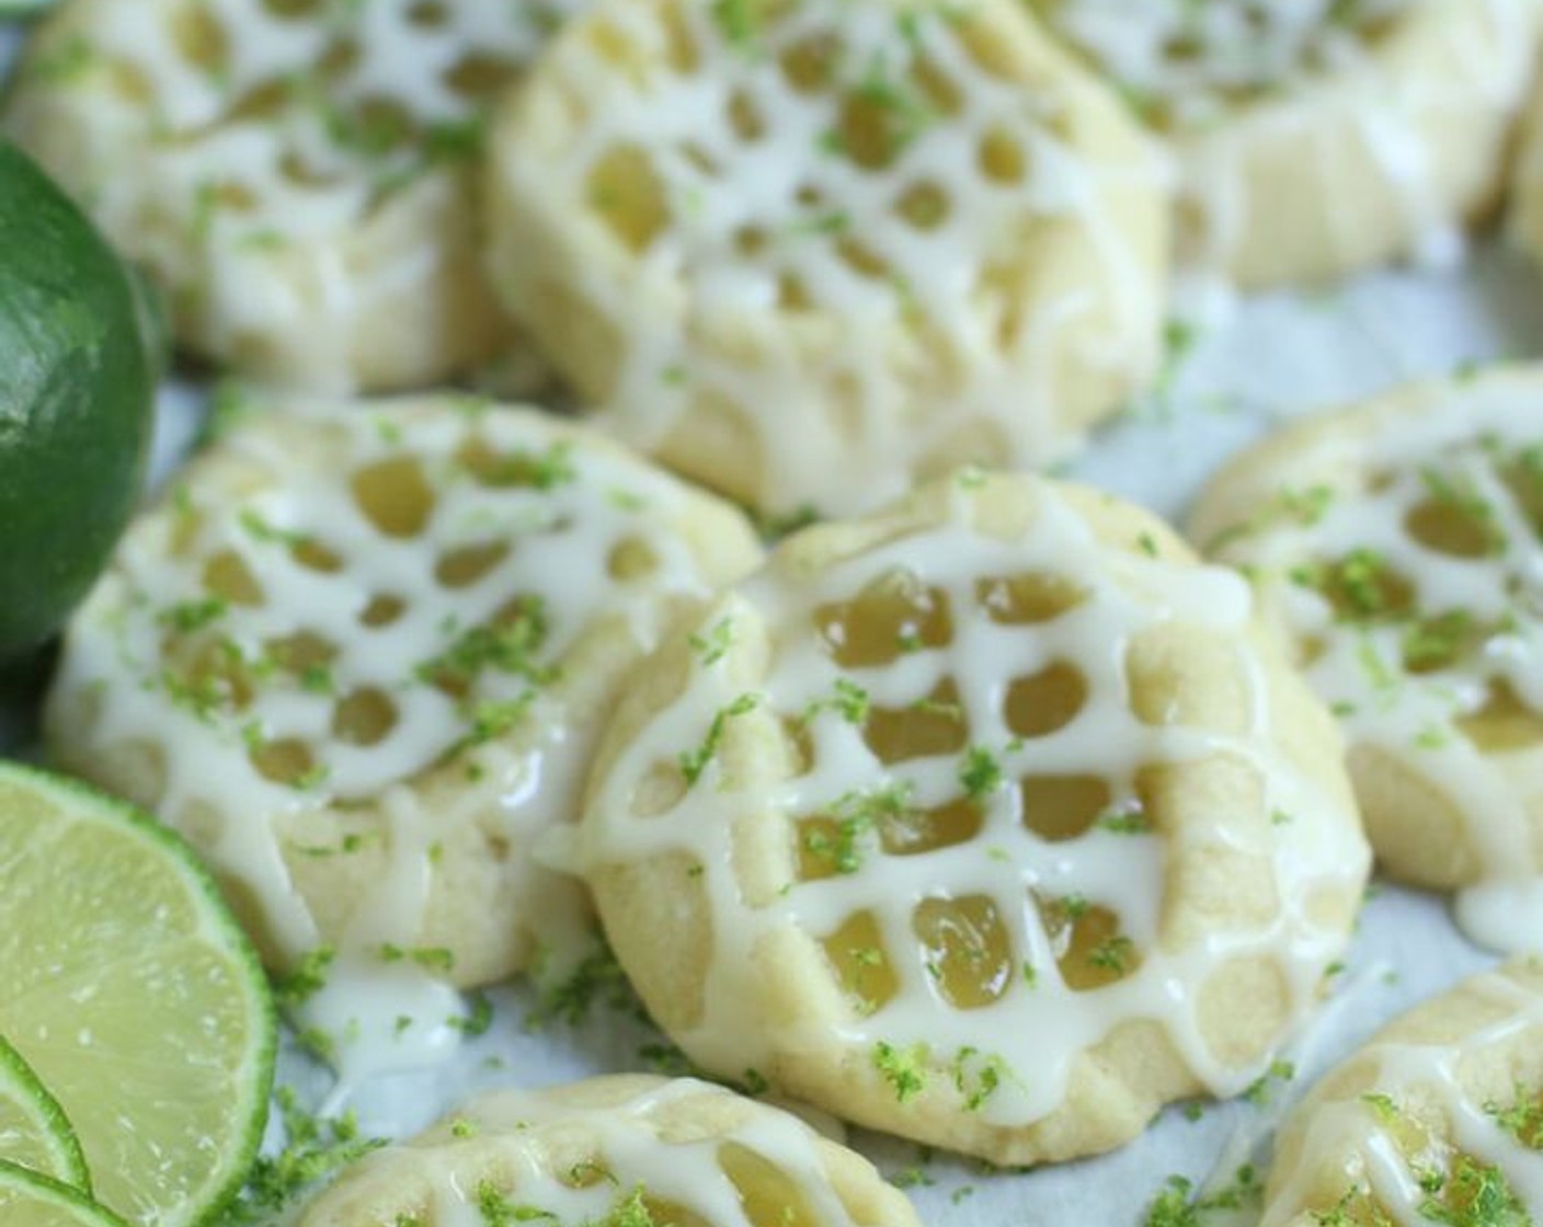
[[[239,1193],[262,1144],[267,1124],[278,1045],[278,1019],[256,949],[230,914],[213,875],[176,832],[86,784],[19,762],[0,762],[0,792],[6,787],[32,793],[54,810],[62,823],[106,827],[151,852],[159,863],[165,864],[167,872],[176,880],[181,894],[194,911],[196,928],[181,940],[216,952],[219,966],[230,972],[225,980],[239,1000],[227,1003],[227,1006],[235,1017],[245,1023],[245,1045],[239,1054],[239,1063],[224,1070],[230,1090],[225,1121],[231,1124],[231,1131],[218,1139],[218,1150],[205,1150],[198,1156],[201,1179],[194,1195],[177,1204],[156,1205],[153,1210],[142,1208],[130,1219],[147,1225],[153,1222],[154,1227],[199,1227],[199,1224],[214,1219],[221,1208]],[[5,821],[6,813],[0,810],[0,829],[3,829]],[[5,906],[5,892],[0,891],[0,908]],[[8,1003],[0,1000],[0,1029],[8,1026],[6,1011]],[[165,1028],[170,1020],[154,1017],[153,1011],[154,1003],[147,1003],[147,1026]],[[14,1029],[11,1039],[25,1048],[25,1037],[15,1034]],[[37,1060],[37,1054],[34,1054],[34,1066]],[[102,1162],[100,1153],[93,1153],[93,1104],[73,1102],[65,1079],[56,1073],[45,1071],[45,1074],[52,1093],[63,1100],[63,1110],[69,1111],[74,1119],[86,1164],[93,1170],[97,1196],[111,1204],[117,1201],[113,1196],[114,1184],[139,1188],[140,1185],[131,1173],[110,1170]],[[85,1099],[85,1096],[79,1097]],[[133,1111],[133,1105],[125,1105],[125,1110]],[[96,1150],[100,1151],[100,1147]],[[194,1161],[190,1158],[190,1162]],[[123,1213],[130,1207],[123,1204],[116,1208]]]

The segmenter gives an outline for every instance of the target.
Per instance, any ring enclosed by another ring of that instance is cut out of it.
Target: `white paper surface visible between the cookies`
[[[0,29],[0,73],[8,52]],[[1225,326],[1204,329],[1167,392],[1105,429],[1069,475],[1179,517],[1228,454],[1288,417],[1461,363],[1529,355],[1543,355],[1543,282],[1494,247],[1452,272],[1386,272],[1332,292],[1248,301]],[[157,472],[188,444],[196,404],[185,387],[164,398]],[[23,752],[28,715],[0,696],[0,752]],[[1287,1054],[1298,1074],[1268,1107],[1207,1107],[1199,1119],[1171,1108],[1116,1154],[1032,1173],[986,1173],[949,1156],[918,1167],[910,1144],[863,1133],[852,1141],[886,1173],[918,1168],[930,1181],[909,1192],[932,1227],[1134,1225],[1167,1176],[1204,1182],[1219,1161],[1230,1176],[1237,1147],[1267,1134],[1324,1068],[1393,1014],[1492,962],[1457,934],[1444,901],[1379,886],[1339,995]],[[485,1088],[645,1068],[639,1048],[654,1037],[603,997],[585,1025],[531,1034],[528,991],[491,995],[492,1028],[452,1065],[376,1079],[349,1097],[366,1133],[410,1134]],[[313,1105],[329,1094],[329,1076],[293,1053],[279,1077]]]

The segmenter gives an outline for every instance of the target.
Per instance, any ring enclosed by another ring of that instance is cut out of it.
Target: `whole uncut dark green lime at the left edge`
[[[89,218],[0,139],[0,659],[63,625],[139,505],[159,361],[147,316]]]

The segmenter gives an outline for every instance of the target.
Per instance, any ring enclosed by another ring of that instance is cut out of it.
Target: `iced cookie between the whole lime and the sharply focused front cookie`
[[[194,843],[270,965],[486,983],[586,915],[532,843],[625,673],[759,556],[736,509],[534,411],[262,406],[120,543],[48,741]],[[389,1033],[372,1003],[338,997]]]

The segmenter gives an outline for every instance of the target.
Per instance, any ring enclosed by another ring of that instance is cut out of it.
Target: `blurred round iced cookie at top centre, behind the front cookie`
[[[1052,460],[1154,367],[1156,162],[1015,0],[600,3],[489,151],[511,310],[773,512]]]

